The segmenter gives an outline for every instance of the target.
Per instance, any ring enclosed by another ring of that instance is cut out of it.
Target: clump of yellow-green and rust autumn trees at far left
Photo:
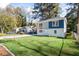
[[[12,31],[16,27],[26,25],[26,15],[21,8],[6,7],[0,9],[0,32],[6,33]]]

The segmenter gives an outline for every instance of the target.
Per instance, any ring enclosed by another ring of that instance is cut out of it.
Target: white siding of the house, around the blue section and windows
[[[55,20],[64,20],[64,28],[51,28],[49,29],[49,25],[48,22],[49,21],[55,21]],[[43,28],[39,29],[39,25],[37,25],[37,35],[48,35],[48,36],[56,36],[56,37],[65,37],[66,35],[66,28],[67,28],[67,20],[65,18],[55,18],[55,19],[50,19],[50,20],[46,20],[43,22],[38,22],[43,24]],[[42,32],[39,32],[39,30],[42,30]],[[56,30],[57,33],[54,32],[54,30]]]

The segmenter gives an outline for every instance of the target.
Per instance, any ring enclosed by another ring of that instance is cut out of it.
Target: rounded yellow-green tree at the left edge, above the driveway
[[[6,33],[16,27],[16,20],[14,17],[6,13],[0,13],[0,32]]]

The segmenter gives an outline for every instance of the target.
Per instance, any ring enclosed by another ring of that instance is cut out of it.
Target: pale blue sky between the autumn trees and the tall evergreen
[[[10,3],[9,6],[23,8],[26,13],[27,22],[31,22],[34,3]]]

